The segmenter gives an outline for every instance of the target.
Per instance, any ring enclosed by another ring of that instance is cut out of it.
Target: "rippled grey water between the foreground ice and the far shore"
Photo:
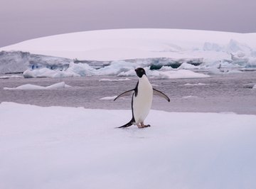
[[[102,100],[132,89],[137,77],[131,81],[100,82],[102,78],[123,77],[70,77],[70,78],[10,78],[0,80],[0,102],[18,102],[39,106],[85,107],[92,109],[130,109],[131,99]],[[149,78],[154,87],[165,92],[171,99],[154,97],[152,109],[169,112],[235,112],[256,114],[256,72],[234,75],[213,75],[201,79],[159,80]],[[3,90],[24,84],[48,86],[64,81],[72,87],[58,90]],[[203,85],[185,85],[186,83]]]

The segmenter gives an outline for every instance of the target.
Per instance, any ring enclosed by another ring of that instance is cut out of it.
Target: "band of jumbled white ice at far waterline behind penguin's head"
[[[136,73],[134,69],[139,67],[135,63],[123,63],[122,61],[114,62],[109,66],[100,69],[91,68],[87,64],[73,64],[72,68],[68,70],[50,70],[48,68],[42,68],[37,70],[26,70],[24,77],[78,77],[78,76],[92,76],[92,75],[117,75],[122,77],[134,76]],[[193,70],[149,70],[149,67],[144,68],[146,74],[150,77],[156,77],[161,79],[171,78],[200,78],[209,77],[209,75],[193,72]],[[120,80],[120,79],[119,79]],[[122,80],[122,79],[121,79]]]

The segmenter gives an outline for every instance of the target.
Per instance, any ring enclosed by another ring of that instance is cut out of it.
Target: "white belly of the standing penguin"
[[[137,97],[133,99],[133,112],[134,119],[137,124],[141,123],[146,119],[151,109],[153,99],[152,86],[145,76],[139,80]]]

